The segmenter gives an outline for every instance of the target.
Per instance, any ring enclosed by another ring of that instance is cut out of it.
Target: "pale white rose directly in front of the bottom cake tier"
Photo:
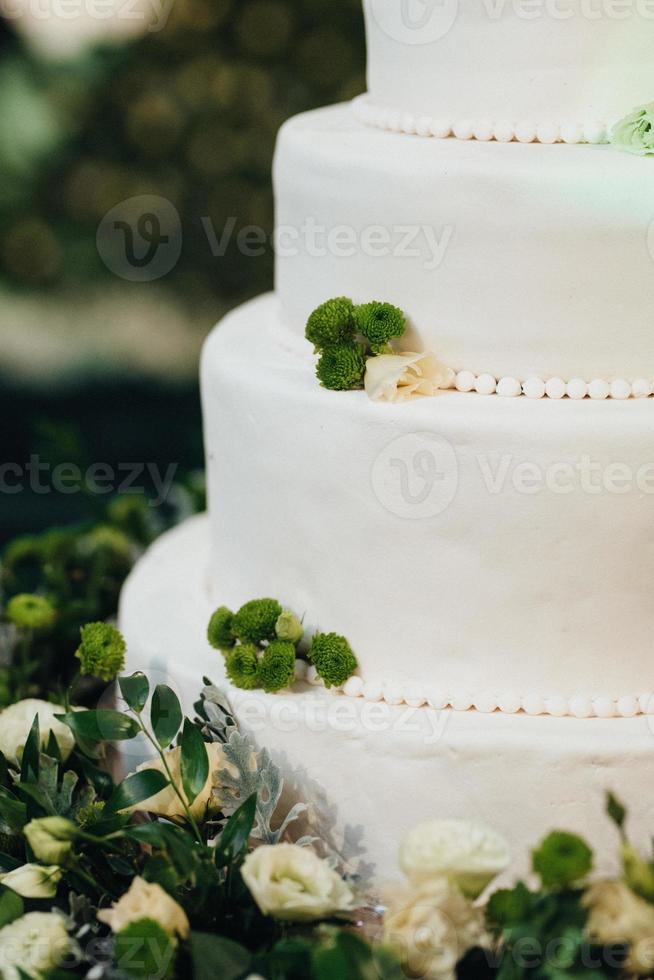
[[[400,867],[408,878],[447,878],[470,898],[481,895],[509,860],[504,838],[464,820],[420,824],[400,848]]]

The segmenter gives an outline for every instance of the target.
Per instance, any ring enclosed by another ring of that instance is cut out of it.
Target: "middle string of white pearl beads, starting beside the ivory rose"
[[[613,398],[625,401],[627,398],[649,398],[654,394],[654,381],[649,378],[637,378],[636,381],[625,381],[615,378],[605,381],[596,378],[594,381],[584,381],[582,378],[527,378],[518,381],[517,378],[495,378],[492,374],[474,374],[472,371],[459,371],[454,379],[457,391],[476,391],[479,395],[499,395],[500,398],[571,398],[578,401],[582,398],[593,398],[603,401]]]

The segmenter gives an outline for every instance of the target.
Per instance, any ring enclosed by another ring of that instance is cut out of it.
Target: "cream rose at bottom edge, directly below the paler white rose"
[[[487,942],[483,913],[445,878],[399,888],[386,901],[384,941],[410,976],[455,980],[459,960]]]

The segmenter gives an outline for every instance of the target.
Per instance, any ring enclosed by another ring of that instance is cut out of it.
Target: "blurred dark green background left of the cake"
[[[26,0],[0,20],[0,463],[36,453],[179,476],[202,466],[202,340],[272,285],[271,246],[247,256],[234,236],[272,232],[284,119],[364,89],[361,3],[144,0],[139,20],[116,0],[106,20],[93,2],[62,19],[56,0]],[[173,206],[181,252],[138,282],[96,236],[143,195]],[[220,238],[230,222],[215,255],[207,228]],[[0,493],[0,544],[96,504]]]

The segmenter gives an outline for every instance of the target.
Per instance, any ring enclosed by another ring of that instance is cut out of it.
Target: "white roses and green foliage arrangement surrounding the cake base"
[[[19,605],[47,611],[35,596]],[[268,612],[297,636],[288,614]],[[530,885],[498,889],[507,842],[434,814],[398,841],[403,880],[380,900],[303,833],[311,801],[283,803],[279,769],[217,687],[205,681],[184,717],[167,686],[120,676],[124,655],[113,626],[82,629],[80,675],[117,678],[116,709],[76,705],[74,680],[58,705],[28,698],[0,713],[5,980],[652,975],[654,861],[629,844],[615,798],[618,880],[594,880],[588,846],[559,831],[534,851]],[[152,758],[116,781],[108,747],[133,739]]]

